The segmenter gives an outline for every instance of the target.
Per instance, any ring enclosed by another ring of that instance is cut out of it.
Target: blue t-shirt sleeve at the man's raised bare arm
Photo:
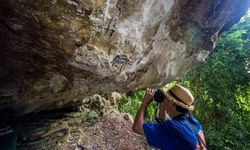
[[[148,145],[158,148],[160,147],[161,142],[163,140],[160,128],[161,124],[154,124],[154,123],[143,124],[144,135],[147,139]]]

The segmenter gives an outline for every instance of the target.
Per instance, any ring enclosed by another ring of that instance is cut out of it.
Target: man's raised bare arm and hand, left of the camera
[[[155,89],[147,89],[147,91],[145,92],[143,102],[136,114],[135,121],[132,127],[133,131],[137,134],[144,135],[143,131],[144,115],[149,103],[153,99],[155,91],[156,91]]]

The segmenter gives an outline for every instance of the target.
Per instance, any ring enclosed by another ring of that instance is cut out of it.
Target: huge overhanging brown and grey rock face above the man
[[[204,62],[248,0],[1,0],[0,110],[161,86]]]

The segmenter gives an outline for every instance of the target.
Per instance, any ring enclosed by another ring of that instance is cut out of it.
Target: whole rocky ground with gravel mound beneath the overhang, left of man
[[[119,113],[115,106],[110,100],[94,95],[86,98],[78,109],[70,107],[26,116],[18,123],[17,149],[146,149],[144,138],[132,132],[131,117]]]

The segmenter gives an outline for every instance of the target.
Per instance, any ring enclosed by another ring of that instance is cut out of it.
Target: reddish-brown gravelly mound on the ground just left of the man
[[[59,149],[117,149],[117,150],[141,150],[146,149],[146,143],[142,136],[138,136],[131,130],[132,122],[126,114],[112,112],[103,117],[93,127],[81,127],[83,131],[79,143],[60,144]]]

